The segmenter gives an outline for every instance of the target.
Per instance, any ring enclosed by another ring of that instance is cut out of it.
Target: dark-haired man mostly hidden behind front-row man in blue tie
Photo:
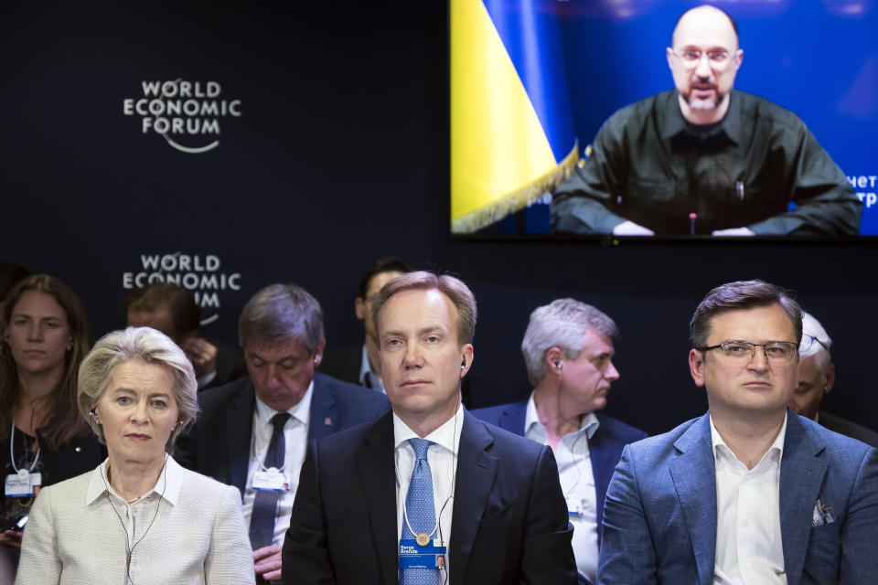
[[[354,313],[363,322],[364,341],[362,346],[332,346],[327,348],[319,370],[324,373],[366,388],[384,393],[381,380],[381,362],[378,358],[378,337],[372,321],[372,306],[369,300],[384,286],[385,282],[412,267],[399,258],[382,258],[369,267],[359,280],[359,293],[354,299]]]

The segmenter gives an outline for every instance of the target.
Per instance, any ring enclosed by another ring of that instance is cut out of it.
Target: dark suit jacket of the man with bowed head
[[[198,420],[177,439],[174,459],[187,469],[234,485],[243,496],[256,407],[251,379],[199,392],[198,406]],[[363,392],[358,386],[315,374],[308,440],[376,420],[390,409],[390,402],[378,392]]]

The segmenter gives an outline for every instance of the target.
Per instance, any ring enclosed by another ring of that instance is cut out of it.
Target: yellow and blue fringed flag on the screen
[[[576,164],[555,2],[451,0],[451,221],[471,233]]]

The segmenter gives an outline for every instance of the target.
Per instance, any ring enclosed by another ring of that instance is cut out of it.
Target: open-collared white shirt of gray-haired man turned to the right
[[[599,425],[594,412],[589,412],[583,417],[579,431],[564,435],[555,451],[561,489],[573,525],[576,569],[592,583],[597,581],[597,495],[588,440]],[[546,429],[537,416],[532,392],[524,419],[524,436],[543,445],[549,444]]]

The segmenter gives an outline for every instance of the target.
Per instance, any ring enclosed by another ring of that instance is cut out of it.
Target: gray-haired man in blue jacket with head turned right
[[[473,410],[481,420],[550,445],[573,524],[582,582],[594,583],[606,486],[622,448],[647,436],[598,414],[610,385],[616,323],[590,304],[558,299],[538,307],[521,342],[533,386],[530,399]]]

